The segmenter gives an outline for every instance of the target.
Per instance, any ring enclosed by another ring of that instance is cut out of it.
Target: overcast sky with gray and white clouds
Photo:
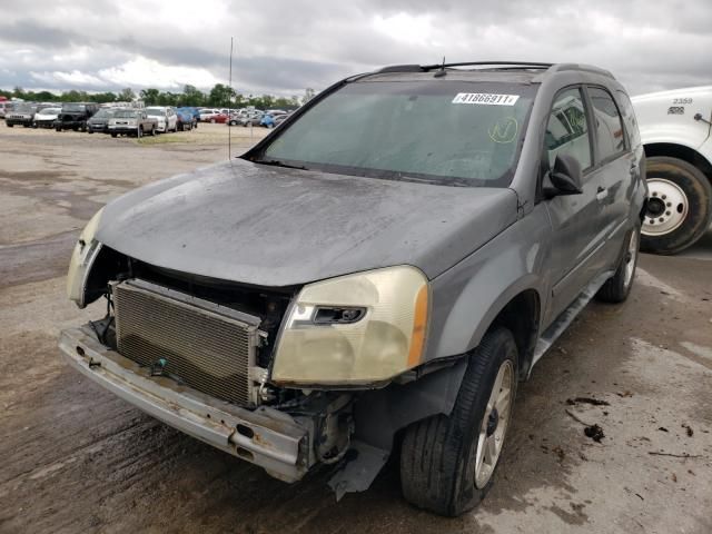
[[[632,93],[712,83],[711,0],[0,0],[0,88],[303,95],[393,63],[604,67]]]

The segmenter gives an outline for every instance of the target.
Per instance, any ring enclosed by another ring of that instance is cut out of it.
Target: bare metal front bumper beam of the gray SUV
[[[103,346],[89,326],[62,330],[59,348],[85,376],[147,414],[285,482],[313,463],[308,423],[261,407],[248,411],[180,386]]]

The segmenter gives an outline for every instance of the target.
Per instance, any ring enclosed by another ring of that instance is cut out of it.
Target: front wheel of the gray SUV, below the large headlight
[[[469,356],[453,412],[411,425],[400,449],[400,487],[421,508],[457,516],[494,482],[517,382],[512,333],[496,328]]]

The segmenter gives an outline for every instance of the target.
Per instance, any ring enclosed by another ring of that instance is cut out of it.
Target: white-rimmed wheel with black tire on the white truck
[[[712,186],[695,166],[678,158],[647,159],[647,209],[641,249],[676,254],[700,239],[712,220]]]

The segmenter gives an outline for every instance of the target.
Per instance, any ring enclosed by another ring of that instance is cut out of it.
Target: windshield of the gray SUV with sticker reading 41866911
[[[508,186],[535,88],[446,80],[357,82],[289,125],[269,162],[392,179]]]

